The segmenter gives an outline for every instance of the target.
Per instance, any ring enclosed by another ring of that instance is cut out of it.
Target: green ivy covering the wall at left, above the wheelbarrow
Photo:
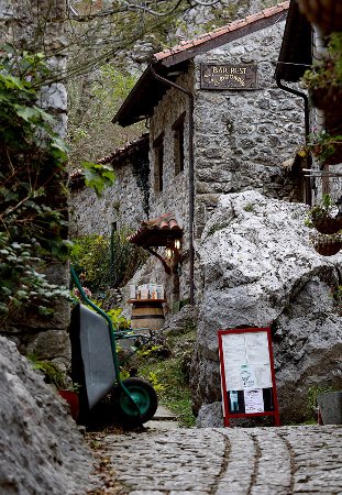
[[[64,261],[70,246],[63,187],[67,147],[53,131],[52,116],[37,106],[49,74],[44,55],[14,56],[11,47],[2,48],[0,319],[23,304],[34,304],[41,315],[49,312],[48,300],[66,292],[47,283],[43,258]]]

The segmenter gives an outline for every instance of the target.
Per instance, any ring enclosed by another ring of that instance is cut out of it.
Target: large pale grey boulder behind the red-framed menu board
[[[311,386],[342,385],[342,317],[330,293],[341,284],[342,255],[316,253],[305,211],[252,190],[221,196],[199,246],[205,294],[191,366],[197,410],[221,400],[219,329],[271,326],[284,422],[305,419]]]

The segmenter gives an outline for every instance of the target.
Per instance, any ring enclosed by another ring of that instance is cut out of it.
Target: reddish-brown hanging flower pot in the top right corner
[[[324,34],[342,31],[342,3],[339,0],[298,0],[300,11]]]

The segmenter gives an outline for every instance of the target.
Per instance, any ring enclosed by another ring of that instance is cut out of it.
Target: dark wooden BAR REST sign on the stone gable
[[[257,65],[201,64],[201,89],[256,89]]]

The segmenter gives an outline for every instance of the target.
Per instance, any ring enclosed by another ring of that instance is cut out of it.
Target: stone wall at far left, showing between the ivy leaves
[[[58,75],[66,67],[66,55],[60,52],[66,46],[65,25],[66,2],[64,0],[13,1],[0,0],[0,41],[11,43],[21,51],[43,52],[52,70]],[[42,29],[44,26],[44,29]],[[63,82],[42,88],[41,107],[55,118],[55,131],[62,138],[66,134],[67,91]],[[57,190],[57,189],[56,189]],[[58,185],[60,195],[55,197],[58,209],[66,208],[66,198]],[[65,202],[65,204],[63,204]],[[51,264],[47,278],[55,284],[68,286],[66,264]],[[36,317],[29,311],[12,322],[7,336],[23,353],[32,352],[43,359],[53,359],[62,367],[69,364],[69,342],[66,329],[69,324],[69,304],[56,301],[53,317]]]

